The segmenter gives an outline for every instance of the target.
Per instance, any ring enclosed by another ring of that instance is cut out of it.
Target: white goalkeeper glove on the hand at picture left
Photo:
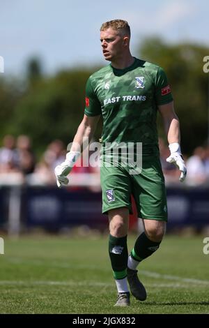
[[[79,151],[70,151],[66,155],[66,159],[60,165],[57,165],[54,169],[54,173],[56,175],[56,184],[59,188],[61,188],[62,184],[68,184],[69,180],[67,175],[72,170],[72,167],[75,165],[77,158],[80,156]]]

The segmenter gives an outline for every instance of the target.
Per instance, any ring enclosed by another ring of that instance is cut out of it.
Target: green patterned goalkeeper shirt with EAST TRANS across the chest
[[[172,100],[164,70],[135,58],[127,68],[110,64],[88,78],[84,112],[102,114],[102,143],[141,142],[144,156],[157,155],[157,106]]]

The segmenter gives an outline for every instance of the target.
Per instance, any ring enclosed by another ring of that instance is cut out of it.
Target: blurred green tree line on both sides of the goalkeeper
[[[141,59],[162,66],[167,73],[187,154],[207,139],[209,82],[203,57],[208,54],[208,47],[171,45],[159,38],[146,39],[139,47]],[[0,137],[27,134],[39,152],[54,139],[67,145],[84,114],[86,80],[98,68],[63,70],[47,77],[38,59],[31,59],[27,67],[24,81],[0,80]],[[101,126],[96,136],[100,133]]]

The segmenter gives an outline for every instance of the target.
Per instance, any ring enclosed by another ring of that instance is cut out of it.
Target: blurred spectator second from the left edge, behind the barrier
[[[35,156],[31,149],[31,140],[27,135],[17,137],[17,165],[24,175],[35,169]]]

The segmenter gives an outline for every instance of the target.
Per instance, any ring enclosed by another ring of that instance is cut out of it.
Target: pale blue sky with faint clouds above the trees
[[[133,55],[140,40],[153,35],[209,45],[208,0],[0,0],[0,14],[6,75],[20,75],[33,56],[46,73],[105,64],[100,26],[116,18],[130,24]]]

